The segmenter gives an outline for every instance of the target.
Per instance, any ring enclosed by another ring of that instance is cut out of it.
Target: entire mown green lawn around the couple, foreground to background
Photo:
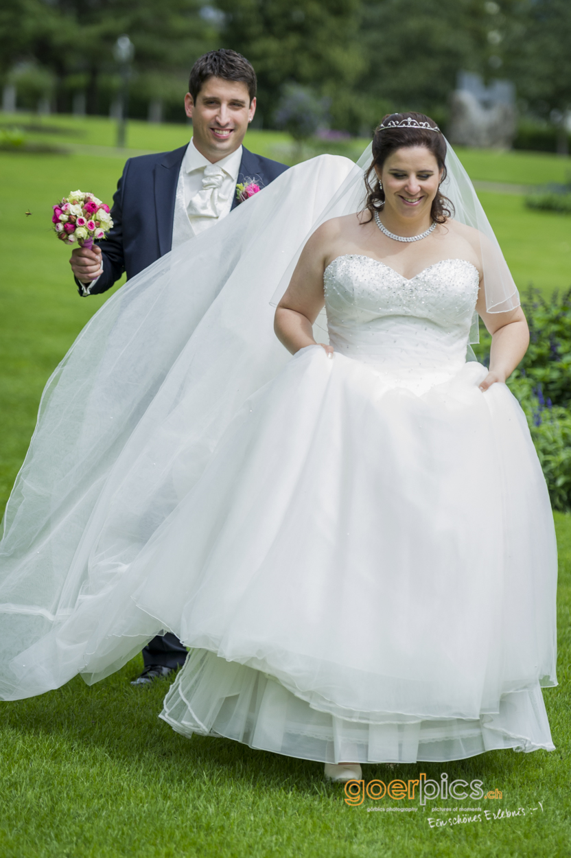
[[[73,125],[69,118],[53,121]],[[78,142],[113,142],[108,120],[78,122],[82,128],[89,134]],[[129,146],[173,148],[188,133],[183,125],[133,123]],[[247,140],[270,156],[285,143],[277,132],[250,132]],[[466,166],[472,158],[474,178],[524,184],[564,178],[568,164],[522,153],[462,157]],[[51,233],[51,203],[77,187],[110,201],[122,166],[111,150],[106,157],[0,154],[2,505],[26,452],[45,381],[104,300],[76,294],[69,251]],[[481,196],[520,287],[529,281],[545,291],[571,285],[571,219],[529,212],[517,196]],[[420,808],[368,813],[380,804],[369,799],[347,807],[342,789],[323,782],[319,764],[173,733],[157,718],[165,683],[129,686],[140,669],[135,660],[92,688],[76,679],[41,698],[1,704],[1,858],[571,855],[571,517],[557,514],[556,527],[561,685],[545,692],[556,752],[493,752],[454,764],[365,771],[367,779],[385,781],[407,780],[419,771],[436,778],[444,770],[450,779],[481,777],[486,789],[502,790],[502,800],[488,801],[490,807],[524,807],[525,817],[439,830],[430,828],[430,813]],[[538,802],[543,813],[530,813]]]

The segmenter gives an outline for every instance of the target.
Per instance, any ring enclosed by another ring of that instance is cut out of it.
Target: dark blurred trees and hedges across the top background
[[[258,75],[257,128],[278,126],[292,86],[327,103],[322,124],[333,130],[370,136],[385,112],[407,109],[446,128],[463,70],[514,82],[514,148],[555,151],[568,138],[569,0],[10,0],[0,9],[4,109],[12,98],[40,113],[109,115],[122,33],[135,45],[132,118],[184,122],[192,63],[231,47]]]

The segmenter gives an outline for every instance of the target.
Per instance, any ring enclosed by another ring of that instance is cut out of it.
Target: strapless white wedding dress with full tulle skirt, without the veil
[[[325,295],[334,360],[245,403],[136,561],[194,648],[162,717],[328,762],[550,750],[550,501],[514,396],[465,362],[478,271],[341,256]]]

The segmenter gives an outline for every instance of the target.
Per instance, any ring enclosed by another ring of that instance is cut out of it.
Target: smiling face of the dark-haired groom
[[[186,94],[184,107],[192,118],[195,147],[215,164],[242,145],[254,118],[255,99],[250,103],[248,87],[241,81],[209,77],[196,100]]]

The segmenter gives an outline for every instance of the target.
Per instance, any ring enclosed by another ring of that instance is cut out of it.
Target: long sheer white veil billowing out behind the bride
[[[90,600],[106,599],[109,611],[110,594],[232,417],[285,366],[272,304],[307,236],[361,208],[369,163],[370,149],[357,165],[322,155],[293,167],[129,281],[81,331],[46,384],[5,512],[0,698],[38,694],[78,672],[97,680],[163,631],[148,618],[104,651],[88,628],[80,641],[71,621]],[[461,166],[460,178],[457,216],[475,213],[469,225],[491,260],[489,305],[506,309],[517,291]],[[504,272],[503,302],[494,266]],[[112,611],[108,625],[112,635]]]

